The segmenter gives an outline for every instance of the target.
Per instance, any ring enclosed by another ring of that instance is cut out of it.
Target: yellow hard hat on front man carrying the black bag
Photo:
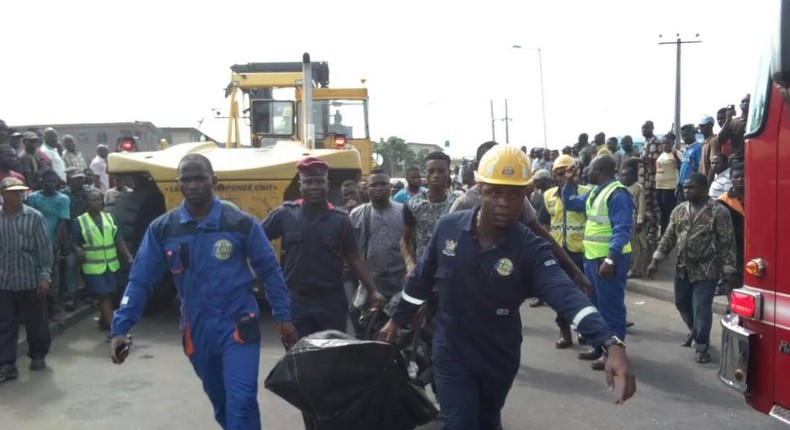
[[[527,154],[510,145],[489,149],[477,167],[477,181],[486,184],[525,186],[530,177],[532,169]]]

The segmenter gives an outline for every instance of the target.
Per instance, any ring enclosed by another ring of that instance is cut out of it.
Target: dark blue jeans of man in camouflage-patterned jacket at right
[[[691,330],[697,351],[707,351],[710,344],[716,282],[716,279],[691,282],[688,278],[675,278],[675,307]]]

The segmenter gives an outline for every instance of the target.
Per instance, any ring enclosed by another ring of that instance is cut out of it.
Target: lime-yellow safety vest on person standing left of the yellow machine
[[[118,261],[118,253],[115,250],[115,232],[118,227],[109,214],[101,213],[102,229],[93,222],[93,218],[85,212],[77,217],[80,223],[80,231],[85,243],[82,249],[85,250],[85,263],[82,264],[82,272],[86,275],[101,275],[110,269],[117,272],[121,268]]]

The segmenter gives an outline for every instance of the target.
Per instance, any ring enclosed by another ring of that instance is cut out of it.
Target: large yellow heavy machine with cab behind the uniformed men
[[[338,204],[343,181],[358,181],[373,167],[367,89],[329,88],[329,65],[312,62],[309,54],[301,63],[233,65],[225,96],[230,109],[224,145],[182,143],[109,155],[109,173],[125,176],[134,188],[106,208],[133,252],[151,221],[181,203],[176,177],[187,154],[208,157],[219,198],[259,220],[299,197],[296,164],[304,157],[329,164],[329,200]],[[248,128],[249,146],[241,143],[243,128]],[[155,288],[151,310],[172,302],[172,282],[165,284]]]

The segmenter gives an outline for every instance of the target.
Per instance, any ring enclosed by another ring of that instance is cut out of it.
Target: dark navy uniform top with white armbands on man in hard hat
[[[510,371],[520,361],[519,308],[527,297],[543,299],[594,346],[614,335],[562,270],[548,243],[523,224],[513,225],[499,244],[481,249],[474,227],[479,210],[453,212],[439,220],[407,280],[393,315],[396,322],[410,322],[435,286],[438,336],[468,366]]]

